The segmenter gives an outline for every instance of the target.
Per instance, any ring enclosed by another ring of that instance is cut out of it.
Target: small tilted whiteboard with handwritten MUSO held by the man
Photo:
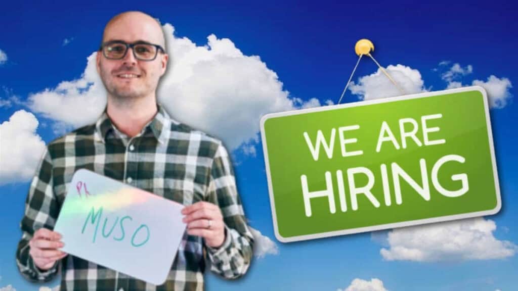
[[[89,170],[76,171],[54,231],[62,251],[155,285],[185,231],[183,205]]]

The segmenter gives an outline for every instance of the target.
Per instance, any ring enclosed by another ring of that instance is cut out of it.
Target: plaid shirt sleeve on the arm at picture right
[[[226,236],[218,249],[206,246],[211,271],[227,279],[239,278],[250,266],[254,238],[244,217],[231,161],[222,144],[212,162],[207,191],[208,200],[221,209]]]

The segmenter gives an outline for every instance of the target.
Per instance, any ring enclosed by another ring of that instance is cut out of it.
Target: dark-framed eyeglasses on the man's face
[[[164,48],[146,41],[126,43],[122,40],[112,40],[103,43],[99,51],[103,51],[106,59],[121,60],[127,53],[128,48],[133,49],[133,56],[140,61],[153,61],[159,51],[165,53]]]

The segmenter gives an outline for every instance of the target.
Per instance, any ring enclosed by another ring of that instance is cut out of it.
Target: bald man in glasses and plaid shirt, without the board
[[[243,275],[252,257],[249,231],[228,154],[221,142],[178,123],[156,102],[168,55],[160,24],[125,12],[105,27],[97,71],[108,104],[95,124],[47,146],[26,200],[17,263],[49,281],[62,262],[62,290],[200,290],[206,259],[225,278]],[[183,203],[187,230],[166,282],[154,286],[63,253],[52,231],[80,168]]]

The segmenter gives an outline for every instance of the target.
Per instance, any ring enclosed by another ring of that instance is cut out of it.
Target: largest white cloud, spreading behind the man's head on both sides
[[[276,72],[259,56],[244,55],[228,38],[212,34],[206,45],[198,46],[187,37],[176,37],[171,24],[163,30],[170,62],[159,102],[173,118],[221,138],[232,150],[256,142],[265,113],[320,106],[318,99],[297,103],[290,98]],[[106,91],[95,56],[94,52],[88,57],[79,79],[29,96],[33,111],[59,122],[56,132],[93,123],[104,109]]]

